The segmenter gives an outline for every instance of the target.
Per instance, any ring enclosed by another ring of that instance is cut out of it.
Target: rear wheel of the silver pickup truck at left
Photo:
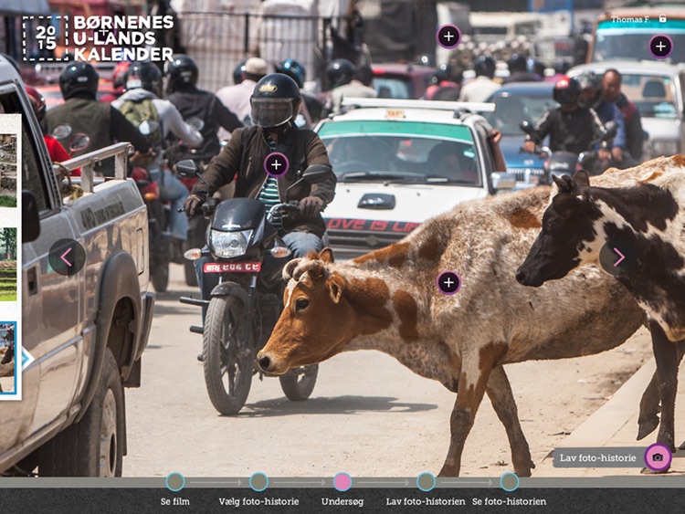
[[[109,348],[104,358],[102,379],[86,414],[41,448],[41,477],[121,477],[123,386]]]

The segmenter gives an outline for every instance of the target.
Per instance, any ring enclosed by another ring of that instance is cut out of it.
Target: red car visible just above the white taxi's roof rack
[[[382,99],[419,99],[435,73],[435,68],[415,64],[374,64],[371,69]]]

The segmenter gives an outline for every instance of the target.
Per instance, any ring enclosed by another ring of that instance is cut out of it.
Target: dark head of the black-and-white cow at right
[[[573,179],[554,176],[558,191],[543,215],[543,228],[531,251],[516,271],[516,279],[524,286],[538,288],[547,280],[564,278],[575,267],[595,262],[599,248],[595,220],[601,211],[584,194],[590,187],[586,172],[577,172]],[[600,245],[601,247],[601,245]]]

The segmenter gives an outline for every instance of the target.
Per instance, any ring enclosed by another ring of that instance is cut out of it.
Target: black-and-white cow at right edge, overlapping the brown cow
[[[516,278],[538,287],[585,264],[603,264],[616,276],[648,315],[661,381],[657,441],[675,451],[678,364],[685,351],[685,156],[659,163],[628,187],[591,186],[585,172],[555,179],[542,231]]]

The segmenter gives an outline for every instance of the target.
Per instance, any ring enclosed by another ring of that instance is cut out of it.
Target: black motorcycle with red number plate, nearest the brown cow
[[[204,182],[192,160],[176,164],[180,176],[197,177]],[[220,202],[209,198],[202,213],[211,216],[206,232],[206,247],[193,248],[185,257],[212,256],[205,273],[217,273],[219,284],[211,299],[182,297],[184,304],[207,309],[204,327],[191,327],[203,334],[203,363],[209,399],[221,414],[237,414],[248,399],[252,376],[276,376],[261,371],[255,357],[269,340],[283,309],[285,283],[281,277],[290,249],[279,239],[271,224],[279,215],[300,212],[291,193],[304,183],[324,180],[330,170],[311,170],[290,185],[286,202],[271,207],[250,198],[231,198]],[[318,364],[291,369],[279,375],[283,393],[294,402],[310,397],[319,372]]]

